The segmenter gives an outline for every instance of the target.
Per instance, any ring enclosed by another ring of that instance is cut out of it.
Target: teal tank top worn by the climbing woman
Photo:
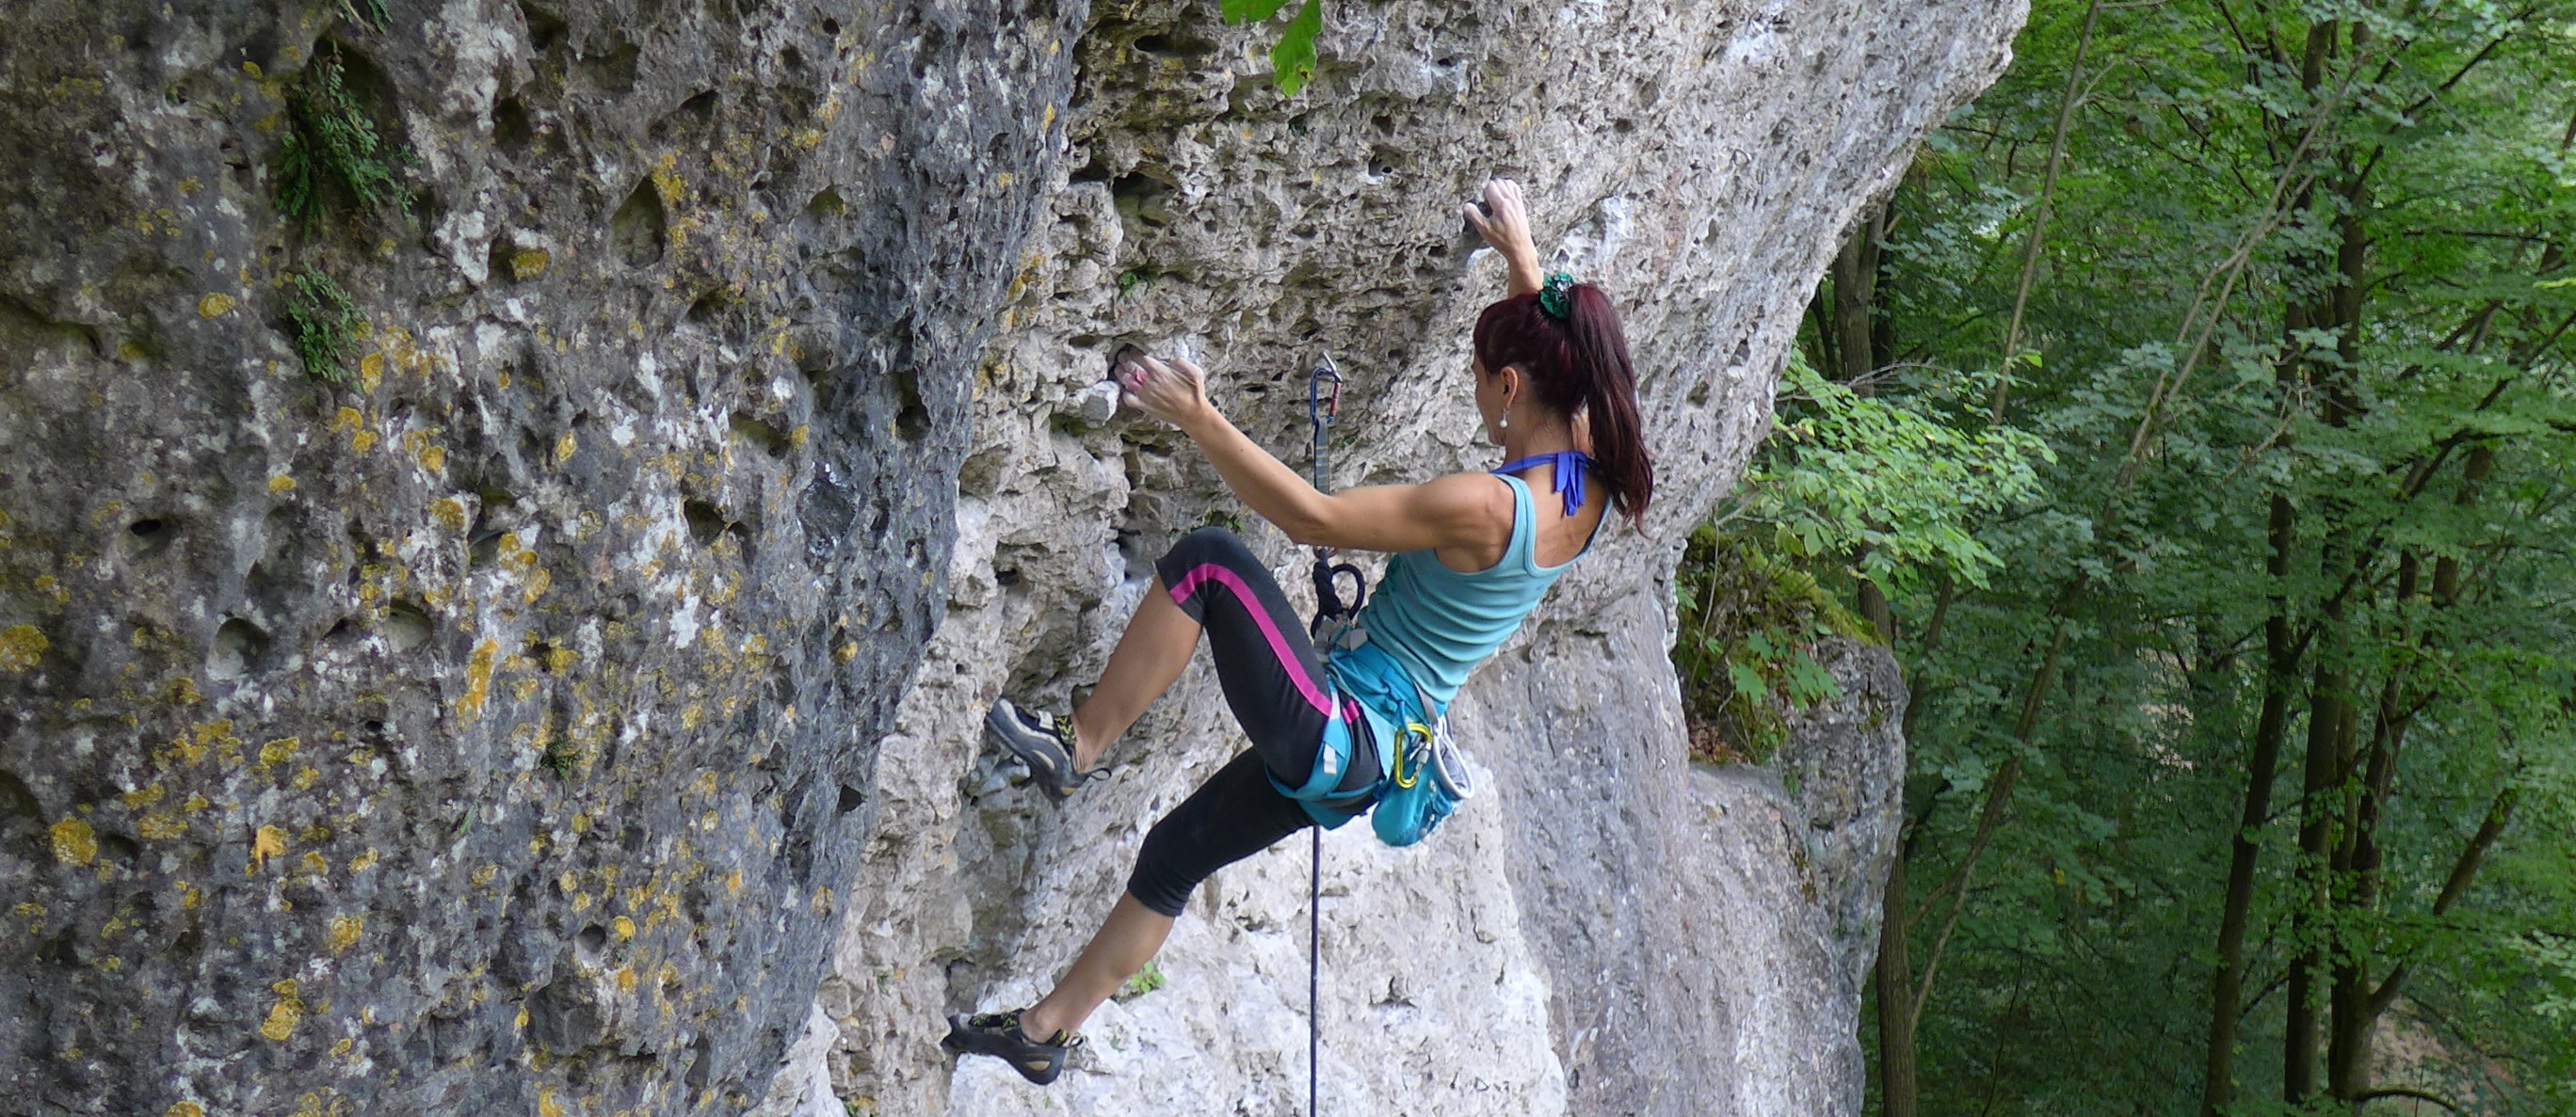
[[[1401,551],[1386,561],[1378,592],[1360,607],[1368,646],[1386,651],[1443,708],[1458,697],[1468,672],[1520,631],[1520,620],[1538,607],[1556,577],[1592,551],[1587,538],[1574,558],[1540,566],[1530,484],[1512,474],[1494,476],[1512,486],[1512,540],[1502,561],[1476,574],[1458,574],[1432,551]],[[1600,525],[1592,533],[1597,535]]]

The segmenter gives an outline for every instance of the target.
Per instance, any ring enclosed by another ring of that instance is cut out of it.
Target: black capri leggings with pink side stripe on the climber
[[[1334,697],[1324,682],[1324,656],[1306,638],[1306,623],[1288,607],[1278,582],[1244,540],[1224,528],[1200,528],[1154,564],[1162,587],[1208,633],[1216,682],[1252,749],[1216,770],[1188,800],[1144,836],[1128,893],[1164,916],[1180,916],[1190,891],[1211,872],[1252,857],[1278,839],[1314,826],[1306,808],[1270,785],[1298,788],[1314,777],[1314,759],[1329,721],[1350,723],[1352,757],[1340,793],[1368,790],[1378,780],[1378,754],[1360,705]],[[1334,708],[1340,703],[1340,708]]]

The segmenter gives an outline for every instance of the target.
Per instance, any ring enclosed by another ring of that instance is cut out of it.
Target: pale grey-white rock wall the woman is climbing
[[[1121,5],[1077,49],[1054,221],[979,376],[948,618],[884,741],[884,813],[824,986],[842,1096],[886,1114],[1303,1104],[1303,839],[1195,898],[1164,986],[1108,1006],[1066,1081],[1041,1094],[989,1060],[948,1076],[940,1014],[1043,991],[1144,829],[1244,746],[1193,669],[1113,749],[1118,780],[1059,811],[976,744],[976,715],[994,695],[1079,697],[1146,564],[1200,522],[1244,520],[1172,432],[1097,407],[1123,340],[1195,353],[1216,402],[1291,463],[1303,371],[1332,350],[1352,376],[1334,484],[1494,463],[1466,332],[1502,268],[1468,257],[1455,208],[1510,172],[1540,247],[1620,299],[1662,499],[1461,697],[1494,793],[1417,849],[1360,829],[1324,842],[1327,1107],[1857,1112],[1899,687],[1886,664],[1844,661],[1875,697],[1790,754],[1808,764],[1798,795],[1690,775],[1669,571],[1767,427],[1837,237],[1994,77],[2022,8],[1329,10],[1296,100],[1267,85],[1267,31],[1226,28],[1213,5]],[[1296,595],[1303,558],[1244,528]]]

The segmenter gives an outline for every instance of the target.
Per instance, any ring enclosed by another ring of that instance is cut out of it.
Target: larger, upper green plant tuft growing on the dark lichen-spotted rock
[[[340,54],[317,54],[286,93],[286,139],[278,144],[278,214],[307,229],[322,216],[325,193],[337,190],[361,214],[412,216],[397,167],[407,154],[389,144],[376,121],[350,95]]]

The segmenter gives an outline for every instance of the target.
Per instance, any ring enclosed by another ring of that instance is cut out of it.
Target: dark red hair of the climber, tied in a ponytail
[[[1520,368],[1538,404],[1566,420],[1584,414],[1592,430],[1592,471],[1610,489],[1610,507],[1646,522],[1654,499],[1654,458],[1636,417],[1636,368],[1618,329],[1610,296],[1592,283],[1569,293],[1564,319],[1538,306],[1535,293],[1512,296],[1476,314],[1476,363],[1486,376]]]

